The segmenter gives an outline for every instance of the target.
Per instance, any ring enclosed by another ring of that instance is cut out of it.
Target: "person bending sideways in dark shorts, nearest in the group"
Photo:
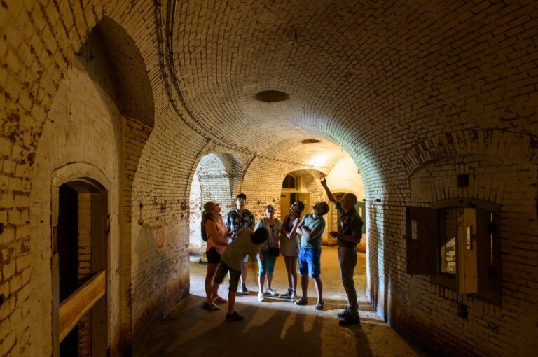
[[[267,241],[268,237],[269,232],[265,227],[258,228],[254,233],[248,228],[243,228],[232,243],[228,245],[226,251],[222,253],[221,262],[219,267],[216,268],[214,284],[216,285],[215,291],[218,291],[224,276],[230,272],[226,321],[241,321],[244,319],[243,316],[234,311],[235,293],[237,292],[237,284],[241,275],[241,265],[247,255],[250,255],[252,259],[256,259],[256,255],[259,255],[260,259],[263,260],[263,255],[260,254],[260,244]]]

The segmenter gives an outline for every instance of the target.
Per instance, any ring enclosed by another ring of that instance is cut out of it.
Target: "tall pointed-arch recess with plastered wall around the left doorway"
[[[138,110],[136,106],[133,110],[132,103],[135,102],[142,103],[144,110]],[[130,335],[130,304],[120,296],[123,296],[122,290],[126,293],[130,287],[131,237],[129,226],[120,228],[120,225],[130,221],[132,177],[153,128],[153,111],[149,77],[137,45],[123,27],[105,17],[92,29],[65,71],[47,114],[48,120],[38,138],[36,153],[32,156],[35,180],[30,211],[34,228],[41,232],[55,233],[53,227],[47,227],[50,219],[46,218],[51,212],[50,202],[54,200],[50,190],[51,181],[55,185],[53,172],[68,168],[78,172],[78,176],[70,176],[71,180],[77,181],[87,177],[86,167],[93,167],[99,173],[95,181],[108,182],[107,212],[110,219],[107,230],[110,239],[107,244],[113,258],[104,268],[109,285],[106,290],[107,316],[102,319],[106,324],[106,328],[102,328],[106,338],[100,343],[105,351],[119,348],[122,318],[125,320],[123,335]],[[71,192],[71,200],[68,200],[71,206],[68,204],[67,207],[72,207],[75,196],[73,190],[69,190],[68,186],[62,188],[63,192]],[[84,197],[90,193],[76,192],[79,208],[88,208],[90,199],[86,197],[88,200],[85,200]],[[69,196],[69,193],[66,195]],[[54,206],[52,209],[55,209]],[[32,257],[35,258],[32,289],[41,289],[53,276],[50,269],[52,255],[50,244],[32,241]],[[122,274],[125,277],[123,281]],[[32,314],[39,321],[39,330],[43,331],[50,330],[50,316],[55,313],[50,304],[50,300],[55,299],[53,286],[45,290],[41,300],[32,307]],[[102,323],[99,322],[99,325]],[[36,348],[40,352],[53,355],[57,350],[50,346],[49,337],[35,334],[33,343],[39,346]],[[95,346],[92,348],[97,349]]]

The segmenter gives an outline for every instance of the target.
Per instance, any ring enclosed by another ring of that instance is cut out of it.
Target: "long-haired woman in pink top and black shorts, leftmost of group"
[[[218,203],[207,202],[202,212],[202,239],[207,241],[207,273],[205,274],[205,295],[207,301],[203,308],[209,311],[219,310],[216,303],[226,302],[219,296],[219,285],[214,284],[216,267],[221,262],[221,255],[228,246],[230,233],[221,217],[221,207]]]

